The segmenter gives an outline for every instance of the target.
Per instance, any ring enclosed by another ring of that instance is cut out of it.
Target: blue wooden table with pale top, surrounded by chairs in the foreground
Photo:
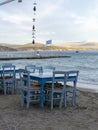
[[[52,81],[53,79],[53,73],[32,73],[30,74],[30,78],[32,80],[36,80],[40,83],[40,108],[43,108],[44,107],[44,86],[45,86],[45,83],[48,82],[48,81]],[[62,75],[58,75],[57,76],[57,79],[62,79],[64,77],[62,77]],[[74,76],[70,76],[68,78],[68,81],[75,81],[76,80],[76,77]]]

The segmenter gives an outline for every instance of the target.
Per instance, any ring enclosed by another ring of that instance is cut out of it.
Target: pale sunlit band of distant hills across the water
[[[0,43],[0,51],[33,51],[33,50],[98,50],[97,42],[64,42],[45,45],[41,43],[27,43],[24,45],[11,45]]]

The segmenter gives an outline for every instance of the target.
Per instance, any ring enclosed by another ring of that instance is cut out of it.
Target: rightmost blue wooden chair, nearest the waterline
[[[76,87],[78,80],[79,71],[68,71],[68,77],[70,80],[67,80],[65,97],[67,96],[67,100],[72,99],[72,105],[76,104]],[[67,106],[67,102],[65,100],[65,107]]]

